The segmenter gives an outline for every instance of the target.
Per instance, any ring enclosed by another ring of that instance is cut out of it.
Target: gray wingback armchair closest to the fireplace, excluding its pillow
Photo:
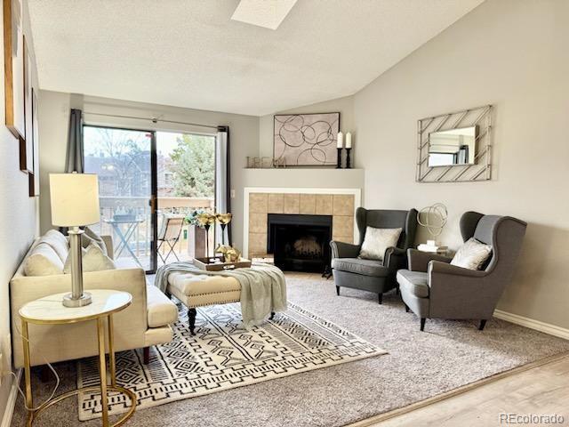
[[[413,246],[417,211],[367,210],[358,207],[356,222],[360,234],[359,245],[330,242],[336,294],[340,295],[341,286],[352,287],[378,294],[378,302],[381,304],[382,294],[397,287],[397,270],[407,266],[406,251]],[[403,229],[397,246],[389,247],[381,261],[357,258],[367,226],[376,229]]]

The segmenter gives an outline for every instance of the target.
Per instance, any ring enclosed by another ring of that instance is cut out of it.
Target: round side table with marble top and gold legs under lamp
[[[97,338],[99,341],[99,373],[100,386],[82,387],[74,391],[60,394],[53,399],[47,400],[36,409],[28,409],[27,426],[31,426],[36,418],[44,412],[45,409],[75,396],[82,391],[100,391],[100,401],[102,407],[102,425],[103,427],[116,427],[123,425],[134,414],[136,409],[135,394],[119,386],[116,383],[116,366],[115,366],[115,349],[114,349],[114,331],[113,331],[113,314],[120,310],[124,310],[131,305],[132,295],[127,292],[114,291],[112,289],[90,289],[92,295],[92,303],[84,307],[68,308],[64,307],[61,301],[63,294],[52,294],[44,298],[28,302],[20,309],[21,318],[21,334],[22,345],[24,348],[24,376],[26,382],[26,407],[34,407],[34,399],[32,397],[32,385],[30,376],[30,359],[29,359],[29,341],[28,341],[28,324],[34,325],[68,325],[78,322],[86,322],[89,320],[97,321]],[[108,320],[108,359],[110,370],[110,385],[107,383],[107,358],[105,354],[105,318]],[[132,405],[129,411],[123,415],[116,423],[108,423],[108,391],[118,391],[124,393],[131,399]]]

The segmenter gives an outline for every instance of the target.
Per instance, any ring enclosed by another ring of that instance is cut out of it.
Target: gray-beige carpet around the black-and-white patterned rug
[[[196,425],[280,427],[341,426],[436,396],[528,362],[569,350],[569,342],[501,320],[484,331],[477,322],[419,319],[405,313],[401,298],[342,289],[316,276],[288,276],[289,301],[333,321],[389,354],[317,369],[140,410],[132,427]],[[76,385],[76,364],[57,365],[61,391]],[[52,383],[35,382],[45,397]],[[39,397],[39,396],[38,396]],[[24,425],[18,399],[12,425]],[[38,419],[36,426],[99,426],[77,421],[77,401],[68,399]]]

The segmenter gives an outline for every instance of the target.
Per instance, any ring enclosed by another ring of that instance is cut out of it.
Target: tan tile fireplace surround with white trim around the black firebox
[[[360,201],[360,189],[245,188],[243,253],[249,258],[267,254],[268,214],[332,215],[333,240],[354,243]]]

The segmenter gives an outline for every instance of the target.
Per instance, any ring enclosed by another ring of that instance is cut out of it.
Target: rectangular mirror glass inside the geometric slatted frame
[[[429,133],[429,167],[474,165],[477,125]]]

